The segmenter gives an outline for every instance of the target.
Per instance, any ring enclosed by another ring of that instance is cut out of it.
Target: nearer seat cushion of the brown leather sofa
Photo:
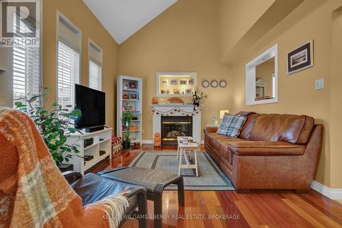
[[[228,142],[228,149],[239,156],[303,155],[305,146],[289,142],[235,141]]]

